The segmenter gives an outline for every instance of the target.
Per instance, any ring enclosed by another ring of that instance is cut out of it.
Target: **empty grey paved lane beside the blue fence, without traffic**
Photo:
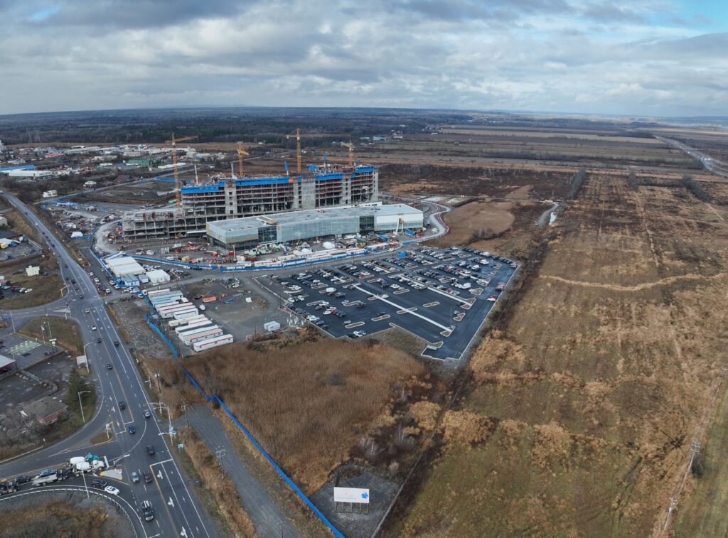
[[[178,419],[178,424],[184,424],[189,420],[190,427],[199,432],[207,448],[215,453],[218,448],[224,448],[226,455],[223,456],[223,467],[226,474],[232,478],[240,500],[245,511],[253,520],[258,536],[261,537],[285,537],[298,536],[298,531],[288,523],[285,515],[278,510],[278,507],[269,497],[261,483],[250,475],[250,472],[235,456],[235,450],[218,420],[210,408],[195,406],[188,411],[186,419]]]

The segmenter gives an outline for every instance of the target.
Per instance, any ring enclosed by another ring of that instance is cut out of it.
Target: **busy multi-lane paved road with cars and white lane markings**
[[[155,511],[154,521],[142,523],[137,518],[139,535],[143,537],[186,536],[213,537],[218,531],[202,509],[194,493],[189,491],[170,451],[169,425],[157,419],[153,413],[144,419],[142,412],[150,407],[143,381],[139,378],[135,363],[126,347],[114,345],[122,342],[114,323],[103,307],[103,298],[98,296],[93,282],[60,240],[57,240],[47,226],[20,200],[11,194],[4,194],[10,204],[25,213],[28,221],[39,229],[45,240],[58,256],[60,274],[68,285],[68,294],[52,306],[68,305],[68,316],[79,322],[86,355],[93,372],[99,405],[87,424],[70,437],[54,446],[47,446],[26,456],[18,457],[0,465],[0,477],[10,478],[19,474],[32,475],[46,467],[58,467],[71,456],[92,452],[118,461],[123,481],[108,478],[122,490],[120,498],[135,512],[142,500],[151,501]],[[73,281],[75,280],[75,284]],[[49,307],[49,313],[52,312]],[[33,315],[33,309],[18,312],[20,317]],[[95,328],[94,328],[95,327]],[[97,339],[101,339],[97,344]],[[107,369],[106,364],[112,368]],[[124,401],[126,408],[119,408]],[[106,424],[114,430],[114,440],[100,446],[90,446],[90,438],[102,432]],[[136,432],[131,434],[129,426]],[[147,445],[154,445],[157,454],[149,456]],[[130,484],[130,472],[136,470],[154,471],[154,483]],[[87,477],[89,478],[89,477]],[[81,480],[74,478],[67,483]],[[28,486],[25,486],[28,488]],[[136,514],[136,512],[135,512]]]

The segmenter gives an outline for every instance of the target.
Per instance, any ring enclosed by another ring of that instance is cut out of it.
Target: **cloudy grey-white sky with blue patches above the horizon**
[[[728,0],[0,0],[0,114],[728,114]]]

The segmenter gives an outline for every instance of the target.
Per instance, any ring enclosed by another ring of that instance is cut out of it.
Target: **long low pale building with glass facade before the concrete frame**
[[[249,248],[315,237],[419,229],[422,224],[422,211],[405,204],[327,207],[208,222],[207,237],[221,247]]]

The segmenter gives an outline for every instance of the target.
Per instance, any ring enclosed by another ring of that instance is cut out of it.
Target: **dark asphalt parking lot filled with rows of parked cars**
[[[470,248],[420,247],[271,280],[290,309],[334,338],[396,326],[430,343],[422,355],[459,360],[517,270]]]

